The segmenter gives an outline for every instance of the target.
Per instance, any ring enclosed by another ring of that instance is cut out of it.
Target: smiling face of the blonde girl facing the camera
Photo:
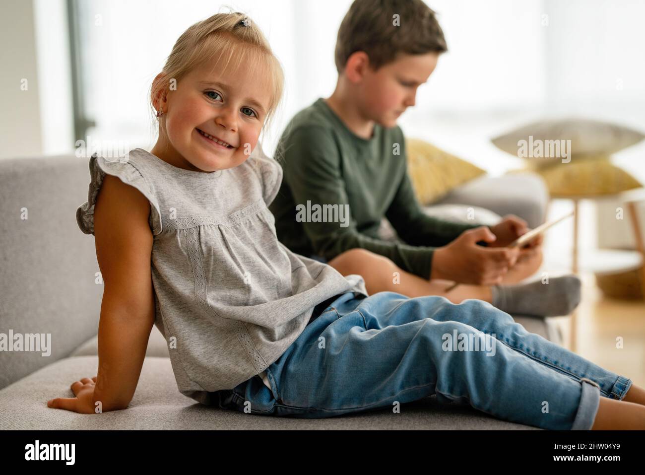
[[[215,172],[237,167],[251,154],[270,103],[270,85],[253,65],[203,63],[172,83],[157,110],[165,112],[167,137],[152,153],[187,170]],[[234,62],[234,59],[230,61]],[[170,79],[169,79],[170,81]]]

